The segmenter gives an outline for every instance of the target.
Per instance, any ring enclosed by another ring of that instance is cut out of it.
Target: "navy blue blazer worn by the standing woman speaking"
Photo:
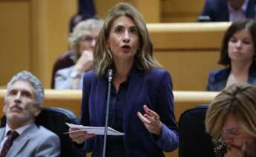
[[[105,104],[108,81],[96,77],[93,71],[85,73],[82,90],[82,125],[105,125]],[[145,113],[143,105],[157,112],[163,123],[160,137],[149,133],[137,111]],[[124,104],[123,130],[126,156],[161,157],[178,145],[177,125],[174,117],[174,97],[169,73],[162,69],[143,72],[133,68]],[[88,138],[84,148],[93,156],[102,156],[103,136]]]

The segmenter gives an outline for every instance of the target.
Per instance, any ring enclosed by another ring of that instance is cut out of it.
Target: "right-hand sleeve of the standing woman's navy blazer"
[[[163,124],[162,133],[157,138],[157,145],[164,151],[173,151],[179,140],[177,124],[174,116],[174,96],[172,93],[171,76],[164,71],[157,90],[157,113]]]

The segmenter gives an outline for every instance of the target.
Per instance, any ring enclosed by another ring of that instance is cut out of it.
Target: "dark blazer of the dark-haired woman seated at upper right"
[[[214,70],[209,73],[208,84],[206,90],[220,91],[226,87],[226,81],[229,78],[230,67],[220,70]],[[252,65],[249,70],[248,83],[256,86],[256,67]]]

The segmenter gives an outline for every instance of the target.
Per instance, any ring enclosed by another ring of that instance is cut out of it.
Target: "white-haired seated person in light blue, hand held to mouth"
[[[102,24],[102,20],[88,19],[76,25],[69,37],[75,64],[56,72],[55,89],[82,89],[83,73],[93,69],[93,50]]]

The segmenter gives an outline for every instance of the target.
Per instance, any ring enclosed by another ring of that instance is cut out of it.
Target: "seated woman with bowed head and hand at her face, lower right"
[[[206,113],[206,131],[217,157],[256,156],[256,87],[247,83],[226,87]]]

